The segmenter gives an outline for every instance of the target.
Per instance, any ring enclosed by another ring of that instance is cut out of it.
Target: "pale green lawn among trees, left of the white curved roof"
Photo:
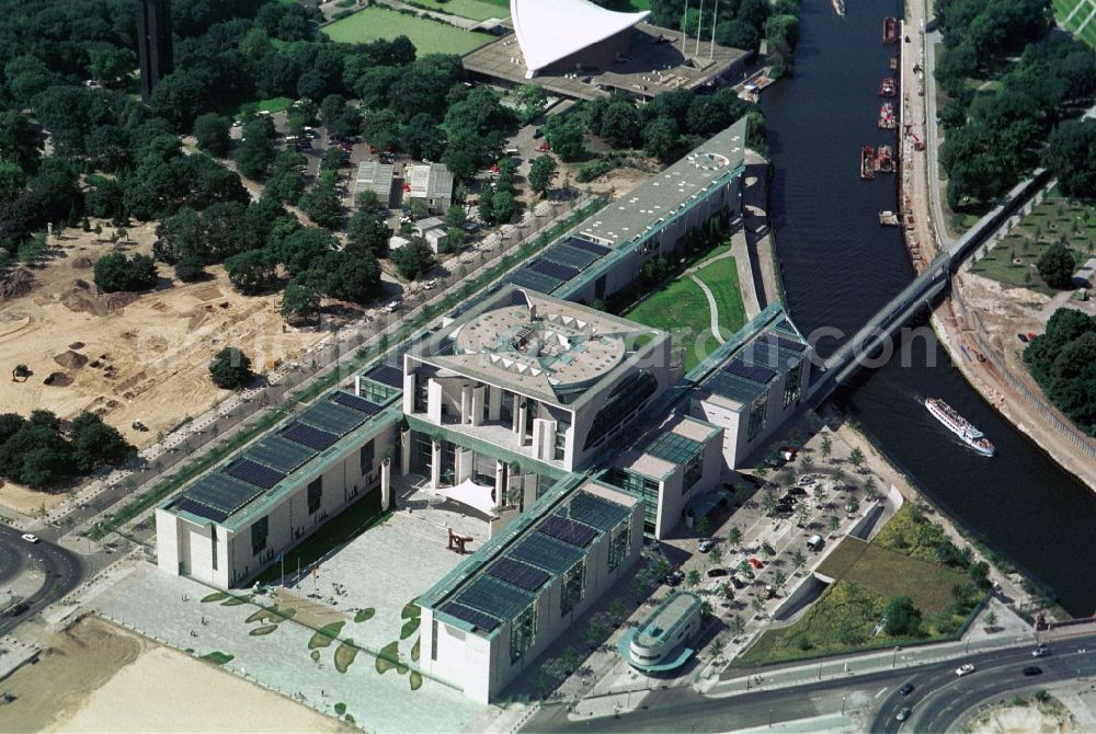
[[[487,33],[471,33],[439,21],[423,20],[374,5],[349,18],[323,26],[323,32],[340,43],[369,43],[380,38],[407,36],[420,56],[457,54],[464,56],[494,41]]]

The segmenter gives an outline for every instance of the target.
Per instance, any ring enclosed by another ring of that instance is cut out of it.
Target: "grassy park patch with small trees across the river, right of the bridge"
[[[1073,252],[1078,267],[1096,251],[1096,209],[1063,196],[1057,186],[995,244],[981,248],[971,272],[1052,296],[1058,291],[1039,276],[1036,263],[1054,242]]]

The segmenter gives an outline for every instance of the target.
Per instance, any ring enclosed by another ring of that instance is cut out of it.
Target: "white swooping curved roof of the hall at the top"
[[[589,0],[510,0],[510,19],[530,74],[650,14],[618,13]]]

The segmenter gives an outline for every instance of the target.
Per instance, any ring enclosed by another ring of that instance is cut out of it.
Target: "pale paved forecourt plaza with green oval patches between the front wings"
[[[408,492],[401,500],[414,505],[410,488]],[[425,508],[427,503],[422,504]],[[409,603],[461,559],[446,550],[445,527],[470,527],[477,520],[454,509],[445,503],[408,513],[404,504],[385,524],[321,561],[315,575],[301,570],[297,578],[294,569],[285,588],[259,595],[233,592],[253,603],[220,598],[212,587],[142,564],[98,600],[96,611],[179,650],[231,655],[226,669],[324,713],[334,715],[335,704],[342,703],[367,731],[459,731],[486,707],[418,676],[420,630],[406,617]],[[487,525],[478,524],[479,539]],[[275,606],[295,610],[302,623],[256,618],[263,617],[262,607]],[[324,626],[339,626],[339,638],[362,649],[344,665],[345,673],[335,665],[339,640],[316,645],[313,628]],[[378,665],[376,651],[395,652],[402,665]]]

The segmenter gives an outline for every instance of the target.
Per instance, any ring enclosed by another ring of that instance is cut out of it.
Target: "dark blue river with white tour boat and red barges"
[[[894,73],[888,60],[898,50],[882,43],[882,19],[900,7],[847,7],[840,19],[829,0],[802,0],[795,78],[762,95],[777,257],[792,318],[807,334],[854,333],[914,275],[898,229],[878,223],[880,210],[897,208],[894,176],[859,179],[860,146],[897,142],[878,129],[877,115],[879,82]],[[840,341],[821,340],[819,352]],[[935,342],[913,340],[910,354],[861,370],[834,402],[950,516],[1053,589],[1069,612],[1092,615],[1096,564],[1084,540],[1096,529],[1096,495],[1004,422]],[[982,458],[959,443],[928,415],[926,395],[979,426],[997,456]]]

